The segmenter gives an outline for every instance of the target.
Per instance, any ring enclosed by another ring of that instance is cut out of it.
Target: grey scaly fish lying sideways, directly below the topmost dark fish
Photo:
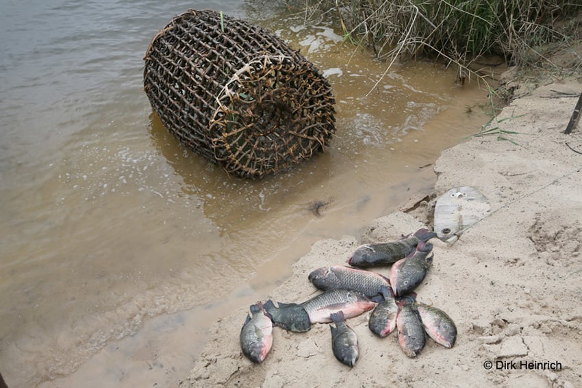
[[[367,296],[381,294],[382,287],[390,287],[390,281],[375,272],[357,270],[346,266],[322,267],[309,274],[318,289],[352,289]]]

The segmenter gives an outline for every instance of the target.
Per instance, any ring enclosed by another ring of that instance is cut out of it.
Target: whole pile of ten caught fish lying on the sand
[[[288,331],[309,331],[312,324],[331,323],[333,354],[353,366],[359,351],[355,331],[346,319],[372,311],[368,327],[379,337],[397,329],[398,344],[408,357],[424,348],[426,335],[438,344],[455,344],[455,322],[441,309],[416,302],[413,290],[431,268],[435,233],[420,229],[414,235],[394,242],[366,244],[355,250],[348,263],[352,267],[392,266],[390,279],[368,270],[329,266],[309,274],[323,292],[302,303],[275,303],[268,300],[251,306],[251,314],[240,332],[240,346],[246,357],[262,362],[273,345],[273,325]],[[430,256],[429,256],[430,255]]]

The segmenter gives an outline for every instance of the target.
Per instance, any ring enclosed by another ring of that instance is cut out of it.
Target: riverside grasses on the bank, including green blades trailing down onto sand
[[[311,16],[336,11],[344,39],[390,62],[385,74],[398,59],[430,57],[456,66],[461,85],[477,78],[488,92],[492,117],[475,135],[496,135],[514,144],[507,135],[515,132],[501,129],[496,115],[514,98],[514,88],[490,85],[493,77],[485,68],[492,61],[485,58],[494,55],[500,58],[496,64],[514,66],[516,79],[579,73],[580,10],[581,3],[568,0],[319,0],[305,5]]]

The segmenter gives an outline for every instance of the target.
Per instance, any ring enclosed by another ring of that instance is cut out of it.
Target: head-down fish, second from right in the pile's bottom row
[[[425,347],[427,336],[420,314],[414,307],[414,298],[398,300],[398,307],[400,307],[396,318],[398,345],[408,357],[416,357]]]

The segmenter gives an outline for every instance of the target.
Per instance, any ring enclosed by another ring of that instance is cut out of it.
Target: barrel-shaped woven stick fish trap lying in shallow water
[[[238,177],[308,159],[336,131],[327,79],[251,23],[188,10],[153,38],[144,62],[144,90],[164,127]]]

